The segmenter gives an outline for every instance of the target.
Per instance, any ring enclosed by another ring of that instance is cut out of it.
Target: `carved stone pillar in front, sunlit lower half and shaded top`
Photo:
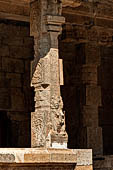
[[[62,4],[58,0],[31,0],[30,7],[35,50],[32,63],[32,86],[35,88],[35,112],[31,115],[32,147],[66,148],[58,54],[58,36],[65,22],[61,16]]]

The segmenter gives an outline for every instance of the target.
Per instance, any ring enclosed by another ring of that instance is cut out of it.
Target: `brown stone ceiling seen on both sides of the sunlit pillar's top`
[[[0,0],[0,19],[29,22],[29,2],[30,0]],[[91,15],[91,11],[96,7],[99,17],[107,17],[108,10],[109,17],[113,19],[113,0],[62,0],[62,3],[63,12]]]

